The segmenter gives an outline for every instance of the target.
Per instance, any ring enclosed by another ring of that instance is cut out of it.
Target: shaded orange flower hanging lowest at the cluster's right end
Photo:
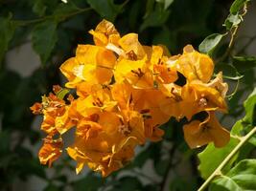
[[[191,148],[214,142],[216,147],[223,147],[230,139],[229,132],[225,130],[214,112],[208,112],[208,117],[200,122],[194,120],[183,127],[184,137]]]

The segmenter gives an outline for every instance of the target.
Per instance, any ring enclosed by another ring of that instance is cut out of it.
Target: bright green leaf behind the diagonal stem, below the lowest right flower
[[[198,169],[201,177],[203,179],[207,179],[221,164],[221,161],[235,148],[238,142],[239,140],[237,138],[230,138],[229,143],[222,148],[216,148],[213,143],[208,144],[207,147],[198,154],[198,158],[200,160]],[[230,167],[231,164],[232,161],[226,166],[226,168]]]

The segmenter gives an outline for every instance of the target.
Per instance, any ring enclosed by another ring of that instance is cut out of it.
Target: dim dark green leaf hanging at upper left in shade
[[[33,47],[40,55],[42,64],[46,63],[55,48],[58,40],[57,26],[57,22],[47,20],[36,25],[32,33]]]

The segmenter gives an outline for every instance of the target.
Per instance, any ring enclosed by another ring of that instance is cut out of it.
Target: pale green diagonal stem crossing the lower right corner
[[[253,127],[253,129],[243,138],[241,138],[241,141],[238,143],[238,145],[231,151],[231,153],[221,162],[221,164],[218,166],[218,168],[211,174],[211,176],[204,181],[204,183],[199,187],[198,191],[203,191],[208,184],[214,180],[217,176],[221,175],[221,169],[227,164],[227,162],[232,159],[235,154],[239,151],[239,149],[244,145],[244,143],[251,138],[256,133],[256,127]]]

